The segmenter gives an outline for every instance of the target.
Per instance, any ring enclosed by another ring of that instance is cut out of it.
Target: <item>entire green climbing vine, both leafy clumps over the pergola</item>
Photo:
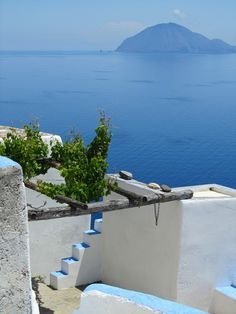
[[[49,165],[43,162],[48,156],[48,147],[43,143],[37,125],[25,126],[24,131],[24,136],[15,131],[9,133],[0,144],[0,154],[20,163],[25,179],[29,179],[48,170]],[[90,144],[85,145],[78,134],[63,144],[56,142],[51,148],[50,160],[57,163],[65,182],[38,181],[40,191],[52,198],[63,195],[84,203],[97,201],[110,193],[111,183],[104,176],[111,137],[110,120],[101,113]]]

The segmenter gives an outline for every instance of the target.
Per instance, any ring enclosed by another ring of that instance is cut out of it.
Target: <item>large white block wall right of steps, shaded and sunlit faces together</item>
[[[132,181],[125,184],[135,191]],[[104,283],[202,310],[211,307],[216,287],[233,284],[236,191],[214,184],[191,188],[192,199],[161,203],[157,226],[154,205],[104,213]]]

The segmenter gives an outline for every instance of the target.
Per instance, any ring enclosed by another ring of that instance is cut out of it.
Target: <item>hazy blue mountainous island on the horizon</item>
[[[236,52],[236,47],[220,39],[208,39],[176,23],[163,23],[125,39],[116,51],[217,54]]]

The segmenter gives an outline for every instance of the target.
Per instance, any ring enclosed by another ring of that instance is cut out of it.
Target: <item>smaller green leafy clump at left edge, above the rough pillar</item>
[[[40,162],[40,159],[47,157],[48,146],[42,141],[37,124],[25,125],[22,133],[11,129],[3,143],[0,143],[0,155],[18,162],[26,179],[48,170],[48,167]]]

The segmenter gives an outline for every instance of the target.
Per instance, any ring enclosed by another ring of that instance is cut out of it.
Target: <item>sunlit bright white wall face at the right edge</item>
[[[236,275],[236,198],[183,201],[177,300],[209,309]]]

